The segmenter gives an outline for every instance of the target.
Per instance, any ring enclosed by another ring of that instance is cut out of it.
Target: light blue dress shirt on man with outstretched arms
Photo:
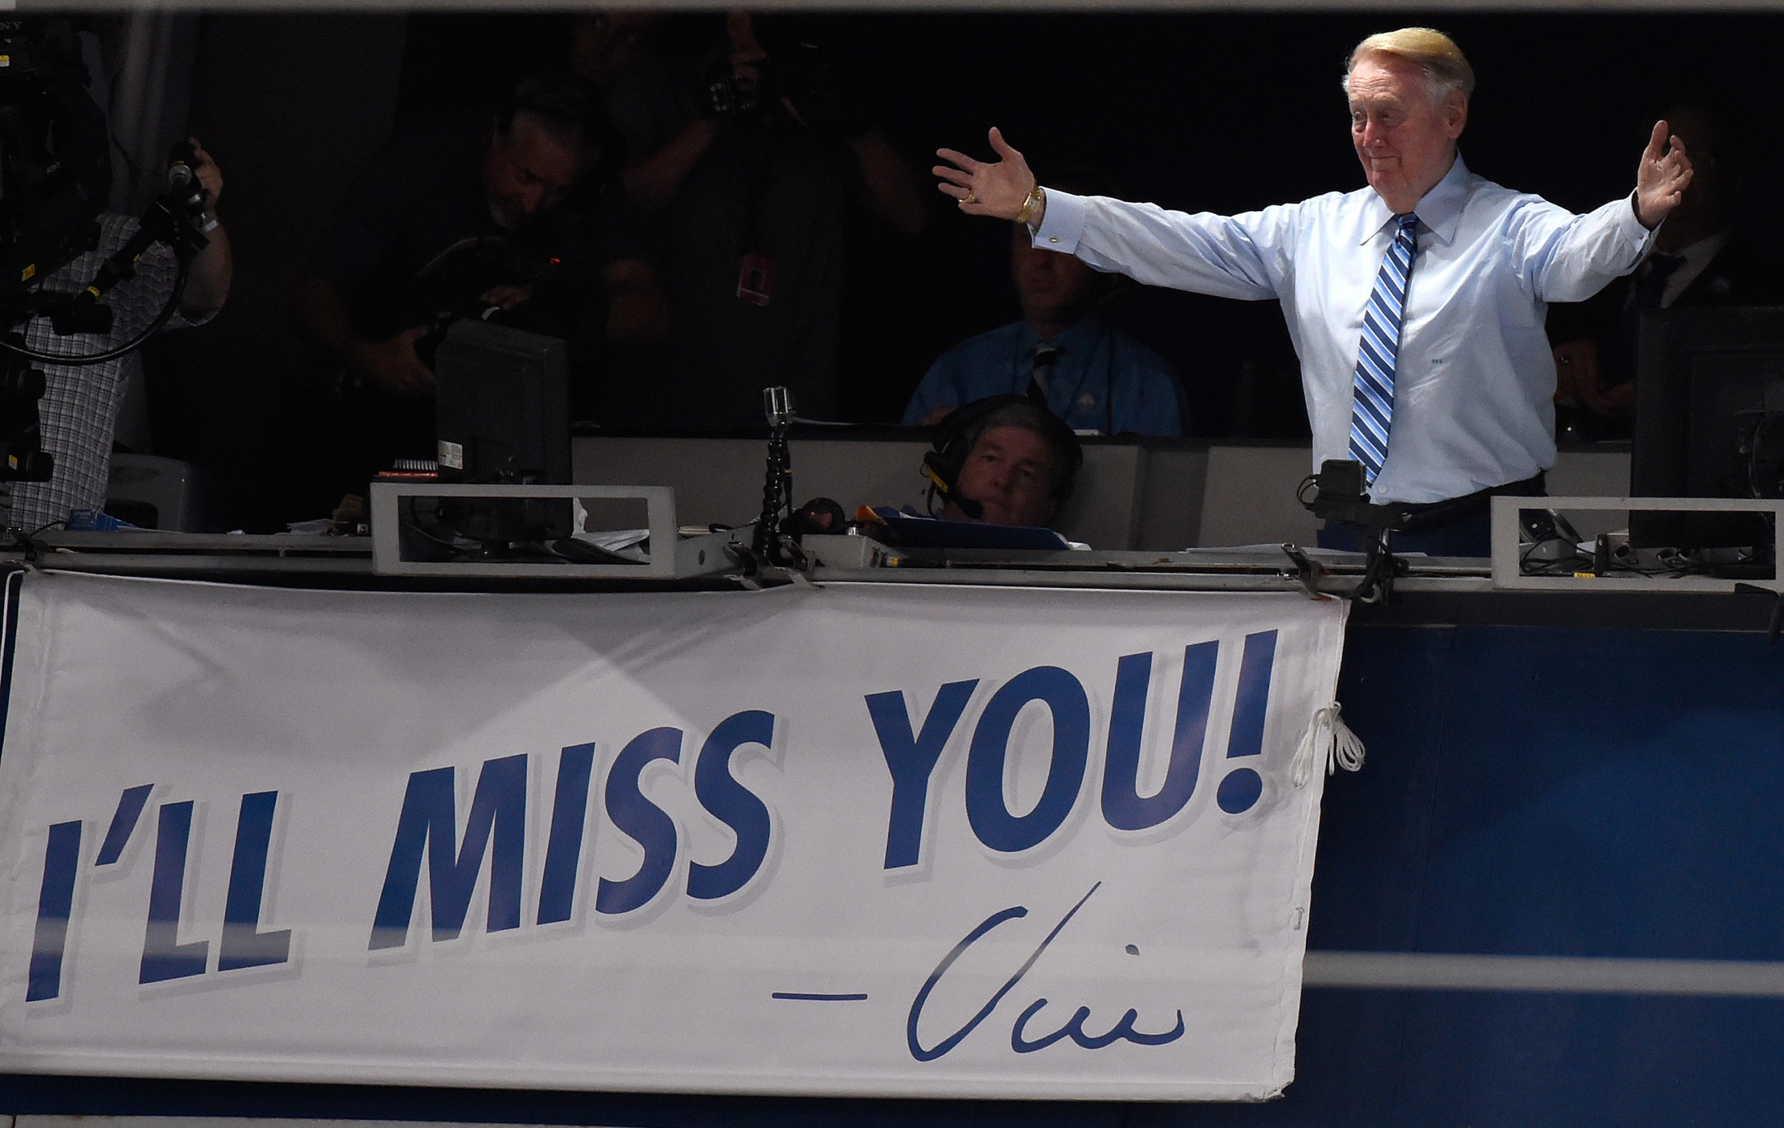
[[[1549,302],[1582,302],[1636,268],[1652,232],[1620,198],[1575,216],[1475,177],[1456,157],[1418,207],[1418,257],[1375,502],[1441,502],[1556,460]],[[1047,191],[1035,246],[1097,270],[1226,298],[1279,298],[1301,357],[1313,469],[1347,459],[1363,307],[1393,239],[1374,189],[1242,216]]]

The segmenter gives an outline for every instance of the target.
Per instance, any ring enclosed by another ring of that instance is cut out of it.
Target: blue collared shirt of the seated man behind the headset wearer
[[[937,407],[1028,391],[1037,344],[1035,327],[1017,321],[949,348],[912,394],[904,427],[921,425]],[[1047,407],[1069,427],[1110,435],[1183,434],[1177,375],[1145,344],[1095,314],[1047,344],[1061,350],[1047,382]]]

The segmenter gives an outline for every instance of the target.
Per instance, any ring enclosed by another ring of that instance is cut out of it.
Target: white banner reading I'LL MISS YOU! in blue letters
[[[0,1071],[1267,1098],[1343,603],[32,575]]]

